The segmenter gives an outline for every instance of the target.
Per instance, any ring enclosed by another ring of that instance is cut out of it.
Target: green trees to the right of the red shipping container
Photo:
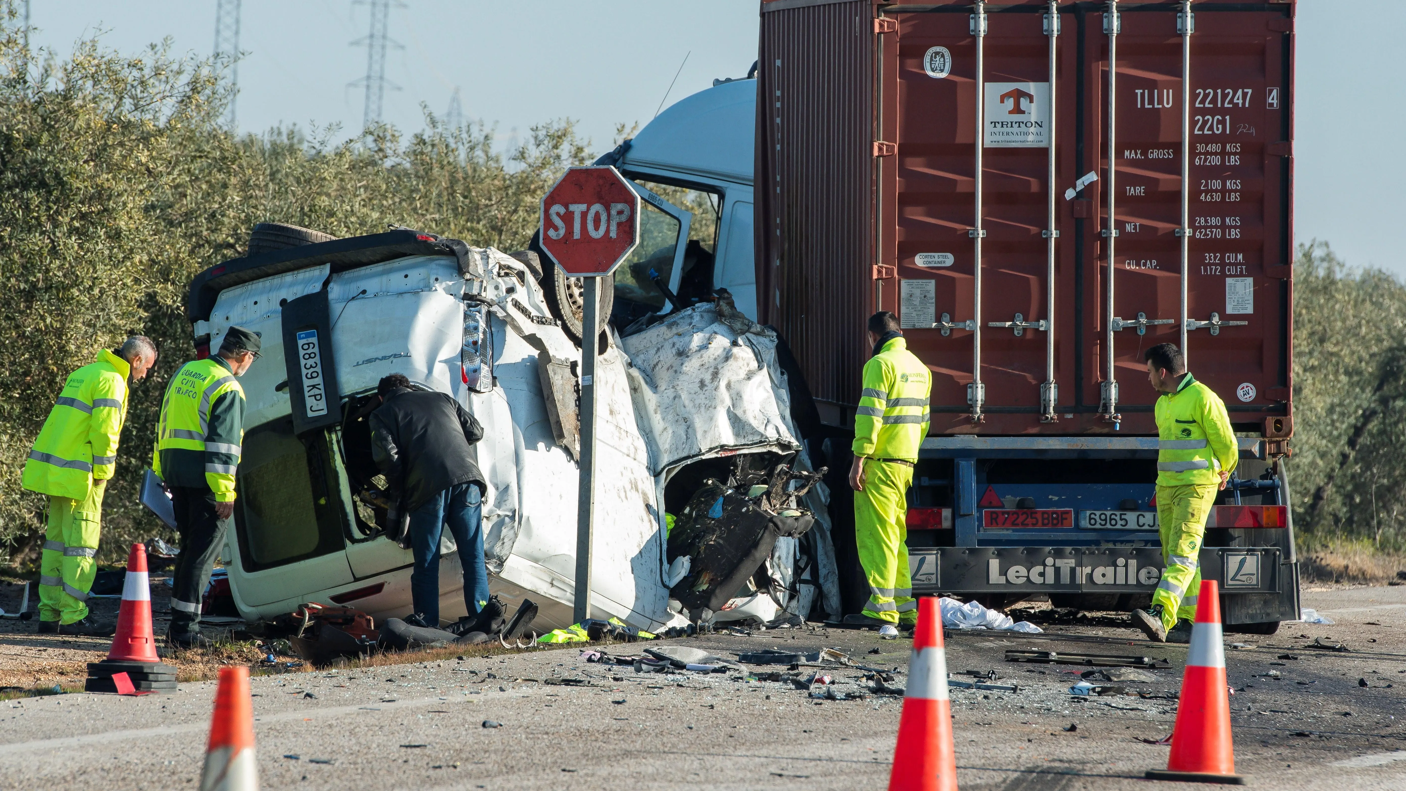
[[[1295,528],[1306,548],[1406,532],[1406,284],[1350,270],[1324,242],[1294,269]]]

